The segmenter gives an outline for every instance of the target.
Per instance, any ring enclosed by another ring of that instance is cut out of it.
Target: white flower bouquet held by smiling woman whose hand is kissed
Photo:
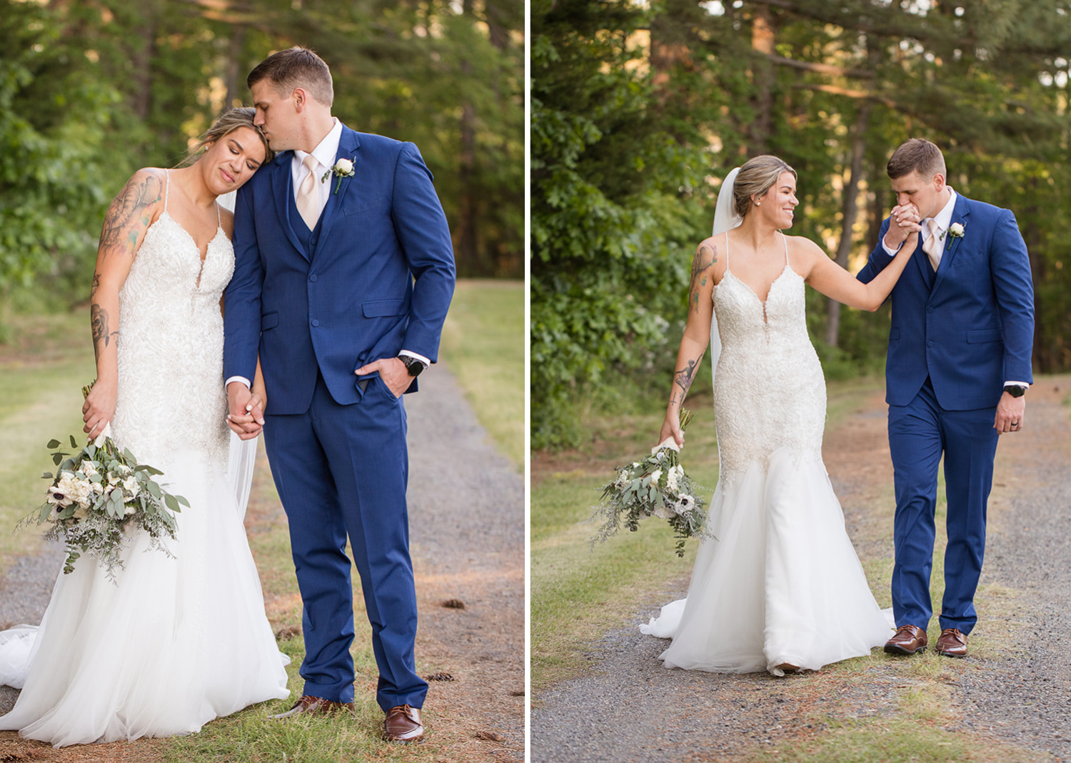
[[[681,431],[691,420],[691,412],[681,410]],[[667,520],[674,528],[678,556],[684,555],[688,538],[705,535],[707,512],[703,498],[697,495],[698,485],[680,465],[680,448],[673,437],[653,448],[647,458],[618,466],[616,472],[617,479],[603,485],[602,500],[594,507],[591,521],[602,518],[604,522],[591,539],[592,548],[617,535],[622,524],[635,533],[639,520],[651,514]]]

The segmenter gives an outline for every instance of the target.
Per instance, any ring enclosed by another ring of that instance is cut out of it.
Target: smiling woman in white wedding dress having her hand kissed
[[[688,598],[645,633],[672,638],[666,668],[784,675],[870,654],[891,633],[844,529],[821,462],[826,384],[808,336],[803,284],[877,310],[917,244],[918,210],[893,210],[909,231],[869,284],[814,242],[788,237],[796,171],[775,156],[734,169],[714,235],[692,266],[689,316],[660,440],[684,442],[681,404],[708,340],[714,365],[720,475],[713,538],[699,545]]]

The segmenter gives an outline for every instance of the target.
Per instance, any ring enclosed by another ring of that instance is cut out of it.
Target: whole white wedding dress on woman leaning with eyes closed
[[[140,533],[116,585],[82,556],[40,629],[0,633],[0,684],[22,689],[0,730],[57,747],[169,736],[289,694],[242,524],[248,460],[237,475],[225,422],[220,297],[233,268],[222,226],[201,263],[165,190],[119,294],[111,431],[190,507],[174,558]]]

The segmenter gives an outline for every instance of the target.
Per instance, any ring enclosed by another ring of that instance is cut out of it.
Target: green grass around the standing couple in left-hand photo
[[[88,323],[85,311],[16,315],[10,323],[12,344],[0,345],[0,527],[4,528],[0,532],[0,574],[18,554],[40,549],[39,533],[12,535],[6,528],[43,500],[46,483],[41,473],[51,468],[45,444],[81,430],[80,387],[94,375]],[[523,284],[458,283],[443,332],[442,355],[493,442],[518,468],[524,458],[524,340]],[[301,601],[286,521],[277,500],[268,469],[259,468],[250,506],[250,547],[260,572],[269,619],[276,633],[282,633],[281,649],[291,658],[289,688],[297,697],[303,683],[298,675],[304,657]],[[382,713],[374,700],[377,669],[371,632],[363,625],[366,617],[359,587],[355,589],[355,620],[357,637],[351,650],[359,685],[352,722],[270,720],[270,713],[292,703],[286,700],[220,719],[199,734],[139,740],[134,743],[137,751],[132,750],[124,760],[336,763],[466,758],[450,740],[436,736],[434,708],[425,716],[431,733],[423,744],[399,746],[381,740]],[[443,667],[434,661],[418,661],[421,674],[439,670]],[[0,759],[4,759],[2,750]]]

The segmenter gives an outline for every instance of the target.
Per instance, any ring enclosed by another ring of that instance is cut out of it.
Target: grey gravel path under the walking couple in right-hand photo
[[[1047,751],[1057,761],[1071,761],[1071,424],[1060,404],[1069,391],[1068,377],[1032,388],[1029,433],[1000,445],[982,584],[1020,593],[1007,595],[1014,596],[1013,618],[979,626],[1004,646],[987,650],[989,658],[950,665],[949,686],[957,719],[950,731]],[[875,397],[827,438],[830,477],[864,556],[891,555],[891,527],[884,540],[875,536],[879,524],[891,522],[891,511],[883,518],[859,508],[881,505],[891,483],[884,412]],[[685,592],[687,581],[678,581],[658,600]],[[894,660],[865,669],[865,679],[856,684],[834,671],[788,679],[667,671],[658,655],[668,642],[635,628],[657,614],[657,607],[637,612],[628,627],[593,645],[592,675],[536,698],[533,763],[743,757],[805,739],[824,712],[840,718],[894,715],[897,698],[914,683]]]

